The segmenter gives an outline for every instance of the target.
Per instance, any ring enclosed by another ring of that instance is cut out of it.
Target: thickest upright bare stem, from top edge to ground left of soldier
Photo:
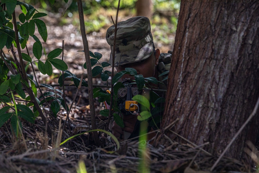
[[[92,67],[91,67],[91,62],[90,62],[88,40],[87,40],[86,33],[85,33],[82,0],[77,0],[77,6],[78,6],[79,21],[80,21],[80,31],[82,34],[83,45],[84,45],[85,61],[86,61],[86,66],[87,66],[88,94],[89,94],[89,105],[90,105],[90,112],[91,112],[91,124],[92,124],[92,129],[94,130],[94,129],[96,129],[96,120],[95,120],[95,107],[94,107],[94,102],[93,102]],[[93,140],[95,141],[95,144],[99,147],[100,141],[99,141],[97,132],[93,132]]]

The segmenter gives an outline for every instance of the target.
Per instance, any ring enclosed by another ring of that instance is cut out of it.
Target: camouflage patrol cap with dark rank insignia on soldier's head
[[[114,44],[115,26],[106,32],[107,43],[111,46],[110,64]],[[125,65],[147,59],[153,52],[153,37],[147,17],[137,16],[118,22],[114,66]]]

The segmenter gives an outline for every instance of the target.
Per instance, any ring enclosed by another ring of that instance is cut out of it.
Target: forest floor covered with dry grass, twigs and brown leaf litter
[[[115,16],[113,17],[115,18]],[[130,16],[120,17],[119,20],[126,20]],[[64,61],[68,64],[68,70],[79,77],[84,74],[87,80],[86,70],[83,68],[85,63],[84,53],[77,52],[83,50],[82,37],[78,25],[74,25],[72,20],[68,19],[66,24],[59,25],[62,17],[57,14],[49,13],[45,18],[47,24],[48,39],[43,44],[46,52],[56,48],[62,48],[64,40]],[[102,61],[109,62],[110,46],[105,40],[106,29],[112,22],[105,25],[99,32],[87,34],[89,50],[99,52],[103,55]],[[158,28],[158,27],[157,27]],[[152,32],[156,32],[154,29]],[[163,31],[160,31],[163,32]],[[156,47],[161,52],[172,50],[174,43],[174,34],[168,34],[172,40],[169,44],[154,38]],[[28,42],[28,47],[33,42]],[[30,50],[30,49],[29,49]],[[23,50],[25,51],[25,50]],[[8,52],[5,52],[8,56]],[[31,53],[32,54],[32,53]],[[10,57],[9,57],[10,58]],[[110,67],[107,70],[111,71]],[[30,69],[29,69],[30,71]],[[49,77],[37,73],[38,79],[42,83],[57,84],[60,75],[58,70]],[[110,80],[108,80],[110,82]],[[65,83],[71,83],[67,80]],[[106,85],[99,78],[93,79],[95,85]],[[57,87],[57,89],[60,89]],[[62,89],[62,88],[61,88]],[[47,91],[47,90],[45,90]],[[66,87],[66,101],[68,105],[75,96],[76,88]],[[40,93],[38,93],[40,94]],[[99,111],[104,109],[104,105],[95,100],[96,122],[99,129],[104,129],[107,125],[107,118],[101,116]],[[72,136],[71,131],[65,129],[60,134],[59,122],[64,123],[66,112],[61,108],[58,118],[53,120],[48,116],[48,123],[53,129],[52,137],[48,137],[45,132],[44,123],[40,118],[35,120],[35,124],[23,122],[23,136],[21,140],[16,140],[12,136],[10,127],[6,124],[0,130],[0,172],[76,172],[83,161],[87,172],[210,172],[210,168],[217,160],[216,156],[202,149],[203,146],[186,141],[185,144],[172,141],[170,146],[159,148],[153,147],[149,141],[139,143],[138,141],[123,141],[120,143],[120,149],[113,154],[107,150],[114,150],[114,142],[106,142],[101,147],[95,146],[91,134],[84,134],[59,146],[59,144]],[[60,118],[61,117],[61,118]],[[61,120],[61,121],[60,121]],[[70,128],[77,124],[85,125],[90,128],[90,106],[88,101],[88,89],[82,87],[76,96],[75,103],[69,114]],[[72,132],[73,133],[73,132]],[[106,139],[102,133],[99,133],[100,141]],[[109,141],[109,140],[108,140]],[[142,146],[147,146],[143,148]],[[97,148],[99,147],[99,148]],[[118,146],[117,146],[118,148]],[[142,155],[139,154],[139,148]],[[250,167],[243,165],[242,162],[224,157],[221,159],[214,172],[249,172]]]

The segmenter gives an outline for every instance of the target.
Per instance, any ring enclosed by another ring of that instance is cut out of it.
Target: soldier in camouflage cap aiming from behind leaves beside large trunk
[[[110,64],[112,64],[114,30],[115,27],[111,26],[106,32],[107,43],[111,46]],[[114,59],[114,67],[117,72],[131,67],[137,71],[137,74],[142,74],[144,78],[155,77],[161,81],[164,77],[159,77],[159,75],[167,69],[169,70],[170,62],[171,59],[170,61],[165,60],[164,54],[160,56],[160,50],[155,49],[150,21],[147,17],[137,16],[118,22]],[[134,80],[134,77],[128,74],[125,74],[121,79],[125,78]],[[164,81],[164,85],[160,83],[150,85],[158,89],[167,89],[166,81]],[[124,128],[119,127],[114,121],[112,133],[119,139],[125,139],[124,131],[131,133],[130,138],[138,136],[140,122],[137,120],[137,116],[123,116]]]

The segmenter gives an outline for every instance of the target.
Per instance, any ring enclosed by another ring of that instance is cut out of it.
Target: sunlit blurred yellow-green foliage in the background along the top
[[[99,32],[100,29],[106,31],[112,25],[111,16],[115,20],[118,1],[83,0],[85,26],[88,34]],[[124,20],[122,16],[136,16],[136,2],[137,0],[121,0],[119,18]],[[154,41],[159,40],[163,44],[169,44],[169,42],[172,42],[170,34],[174,35],[176,32],[181,0],[152,0],[152,3],[153,16],[150,21]],[[57,17],[64,15],[63,18],[60,18],[60,25],[70,22],[78,28],[80,26],[76,0],[68,0],[68,3],[65,3],[64,0],[55,0],[53,5],[48,0],[30,0],[30,4],[54,13]]]

